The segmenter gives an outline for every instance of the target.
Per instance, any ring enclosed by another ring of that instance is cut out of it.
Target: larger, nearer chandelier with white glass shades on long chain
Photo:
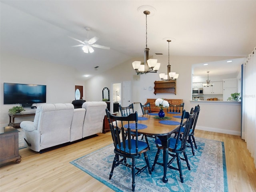
[[[138,75],[146,74],[146,73],[156,73],[157,70],[160,68],[160,63],[157,62],[157,59],[148,59],[149,55],[149,48],[147,44],[147,15],[150,14],[150,11],[143,12],[146,15],[146,48],[144,49],[144,62],[141,63],[140,61],[132,62],[132,67],[137,72]]]

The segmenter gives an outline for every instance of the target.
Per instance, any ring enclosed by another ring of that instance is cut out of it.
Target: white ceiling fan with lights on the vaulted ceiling
[[[88,38],[88,31],[90,31],[91,28],[85,27],[85,29],[86,29],[86,31],[87,31],[87,38],[86,38],[86,40],[84,40],[84,41],[81,41],[81,40],[79,40],[79,39],[76,39],[76,38],[74,38],[74,37],[69,36],[70,38],[72,38],[72,39],[74,39],[74,40],[76,40],[76,41],[82,43],[82,44],[80,44],[80,45],[74,45],[74,46],[72,46],[72,47],[80,47],[80,46],[83,46],[83,47],[82,47],[82,50],[83,50],[85,53],[88,53],[88,52],[92,53],[92,52],[94,52],[94,49],[93,49],[92,47],[101,48],[101,49],[110,49],[110,47],[106,47],[106,46],[94,44],[96,41],[98,41],[99,38],[94,36],[93,38],[89,39],[89,38]]]

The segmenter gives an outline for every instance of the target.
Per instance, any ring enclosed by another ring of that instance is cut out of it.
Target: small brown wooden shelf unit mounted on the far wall
[[[157,93],[174,93],[176,94],[176,80],[162,80],[154,82],[154,94]]]

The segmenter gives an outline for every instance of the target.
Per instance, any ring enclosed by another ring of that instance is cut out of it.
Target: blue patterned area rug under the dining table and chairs
[[[194,149],[195,156],[193,156],[191,148],[186,149],[191,170],[188,170],[186,162],[182,161],[184,183],[180,182],[179,172],[169,168],[167,168],[168,183],[162,182],[163,168],[156,164],[152,175],[150,175],[146,169],[135,177],[135,191],[228,192],[224,143],[204,138],[195,139],[197,144],[197,149]],[[157,148],[154,144],[154,139],[148,138],[148,140],[150,150],[148,150],[147,154],[150,160],[150,166],[152,166]],[[132,191],[130,168],[119,165],[114,169],[111,180],[108,179],[114,160],[113,150],[114,146],[111,144],[70,163],[114,191]],[[181,156],[183,156],[183,154]],[[158,161],[162,161],[162,154],[160,154]],[[136,166],[141,167],[144,166],[144,164],[144,156],[142,155],[140,159],[136,160]],[[172,166],[177,167],[176,160],[172,163]]]

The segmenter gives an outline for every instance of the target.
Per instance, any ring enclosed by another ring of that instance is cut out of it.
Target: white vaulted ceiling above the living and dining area
[[[1,54],[74,66],[80,75],[95,75],[131,58],[143,57],[148,16],[150,55],[247,57],[256,46],[256,1],[176,0],[1,0]],[[98,37],[86,54],[69,38]],[[94,67],[99,66],[98,70]]]

